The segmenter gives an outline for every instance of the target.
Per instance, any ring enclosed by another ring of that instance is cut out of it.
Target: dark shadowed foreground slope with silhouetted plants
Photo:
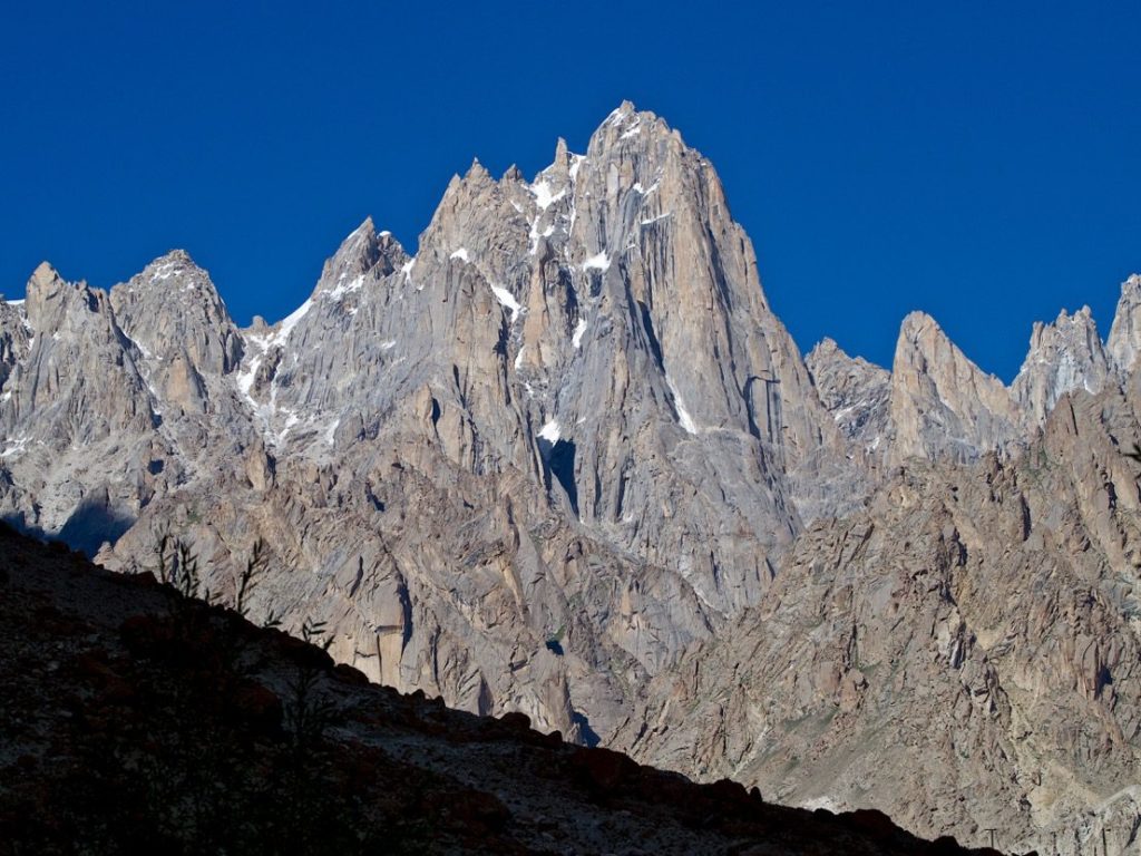
[[[0,854],[982,853],[404,696],[7,528],[0,624]]]

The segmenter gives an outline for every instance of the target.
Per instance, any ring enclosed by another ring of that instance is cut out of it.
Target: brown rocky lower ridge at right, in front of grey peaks
[[[817,524],[764,603],[656,678],[615,744],[800,805],[875,805],[929,835],[1124,842],[1141,500],[1118,450],[1138,404],[1063,397],[1018,461],[913,463],[863,514]]]

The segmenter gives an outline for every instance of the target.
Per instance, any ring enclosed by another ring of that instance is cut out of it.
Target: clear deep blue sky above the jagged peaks
[[[1009,380],[1141,269],[1135,0],[317,6],[8,3],[0,291],[181,247],[273,321],[366,215],[414,248],[472,156],[531,176],[623,98],[713,161],[804,350],[890,364],[922,308]]]

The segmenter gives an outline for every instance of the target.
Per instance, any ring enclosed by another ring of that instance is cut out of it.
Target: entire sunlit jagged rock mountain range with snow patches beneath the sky
[[[1104,347],[1036,326],[1010,387],[922,313],[890,372],[806,360],[712,165],[623,104],[531,181],[472,163],[414,256],[366,220],[272,325],[183,251],[108,292],[42,266],[0,306],[0,515],[123,572],[169,532],[224,597],[261,540],[251,617],[474,713],[1084,841],[1135,784],[1139,283]],[[1074,604],[1004,623],[1043,601]]]

